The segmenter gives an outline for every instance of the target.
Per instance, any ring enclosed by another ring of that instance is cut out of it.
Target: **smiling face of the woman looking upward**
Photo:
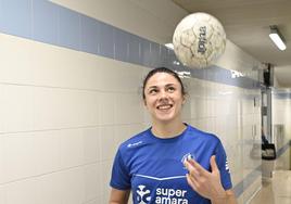
[[[156,73],[144,87],[144,105],[152,116],[153,124],[180,119],[185,97],[179,81],[167,73]]]

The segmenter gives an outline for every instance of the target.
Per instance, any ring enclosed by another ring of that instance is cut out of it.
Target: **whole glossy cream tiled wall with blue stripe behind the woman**
[[[228,41],[208,69],[173,64],[162,44],[187,13],[170,1],[53,2],[0,0],[0,203],[106,203],[116,148],[150,123],[140,87],[159,65],[190,73],[184,118],[222,139],[248,201],[261,187],[260,63]]]

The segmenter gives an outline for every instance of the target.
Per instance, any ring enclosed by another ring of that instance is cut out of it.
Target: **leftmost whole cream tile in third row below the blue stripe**
[[[4,181],[60,169],[59,131],[11,133],[2,137]]]

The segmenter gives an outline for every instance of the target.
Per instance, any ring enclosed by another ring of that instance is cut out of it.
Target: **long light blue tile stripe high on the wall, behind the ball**
[[[218,66],[190,69],[163,44],[47,0],[0,0],[0,31],[147,67],[167,66],[193,78],[260,88],[257,80]]]

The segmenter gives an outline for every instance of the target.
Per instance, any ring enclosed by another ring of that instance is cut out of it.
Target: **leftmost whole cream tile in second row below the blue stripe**
[[[97,125],[98,101],[96,91],[35,88],[35,128],[60,129]]]

